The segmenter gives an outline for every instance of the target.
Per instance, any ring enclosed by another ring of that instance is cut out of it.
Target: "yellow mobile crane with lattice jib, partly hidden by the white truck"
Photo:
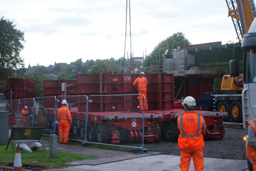
[[[240,46],[233,48],[233,60],[235,60],[236,48],[241,48],[241,43],[256,17],[255,4],[253,0],[226,0],[228,6],[228,16],[231,17],[234,24],[236,35]],[[239,66],[239,63],[237,63]],[[242,122],[242,91],[244,87],[243,74],[224,75],[221,82],[221,90],[236,90],[237,93],[215,95],[217,111],[228,112],[224,121],[233,120]]]

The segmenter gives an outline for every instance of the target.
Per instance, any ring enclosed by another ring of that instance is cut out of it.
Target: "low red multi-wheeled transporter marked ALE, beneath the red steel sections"
[[[47,109],[54,115],[54,109]],[[222,123],[223,114],[217,112],[195,111],[205,120],[204,139],[221,139],[224,136]],[[180,134],[177,128],[177,118],[183,110],[152,110],[145,112],[144,141],[158,142],[160,138],[166,141],[177,141]],[[70,133],[82,136],[85,125],[85,113],[71,109],[72,128]],[[98,143],[120,144],[122,140],[130,142],[142,140],[143,113],[131,111],[89,112],[87,119],[87,140]],[[83,137],[83,136],[82,136]]]

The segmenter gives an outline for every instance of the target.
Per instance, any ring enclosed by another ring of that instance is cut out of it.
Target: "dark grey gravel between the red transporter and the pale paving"
[[[220,159],[246,160],[245,142],[243,137],[247,130],[225,128],[226,134],[221,140],[204,141],[204,157]],[[166,142],[144,144],[149,152],[163,152],[163,154],[180,155],[177,142]]]

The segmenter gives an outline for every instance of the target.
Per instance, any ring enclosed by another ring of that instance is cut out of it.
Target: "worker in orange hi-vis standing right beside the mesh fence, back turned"
[[[70,144],[68,142],[68,134],[71,124],[71,113],[67,108],[67,101],[62,100],[61,104],[63,105],[57,113],[57,120],[59,122],[59,132],[60,132],[60,143],[61,144]]]

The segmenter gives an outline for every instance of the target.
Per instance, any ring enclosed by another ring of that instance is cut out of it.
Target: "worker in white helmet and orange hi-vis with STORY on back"
[[[188,171],[192,156],[195,170],[202,171],[204,168],[204,138],[202,132],[206,128],[205,121],[203,116],[192,111],[196,106],[196,101],[193,97],[186,97],[182,105],[185,113],[178,117],[180,168],[181,171]]]

